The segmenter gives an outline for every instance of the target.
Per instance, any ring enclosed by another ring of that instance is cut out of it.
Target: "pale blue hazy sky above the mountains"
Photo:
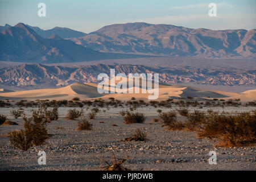
[[[46,4],[46,17],[38,4]],[[208,16],[209,3],[217,17]],[[0,25],[23,22],[44,30],[68,27],[86,33],[114,23],[146,22],[214,30],[256,28],[255,0],[0,0]]]

